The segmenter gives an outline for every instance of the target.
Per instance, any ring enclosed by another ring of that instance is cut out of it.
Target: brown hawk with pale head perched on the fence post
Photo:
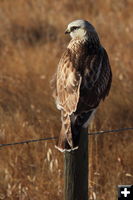
[[[112,82],[109,58],[93,25],[75,20],[68,24],[65,34],[72,39],[53,79],[53,96],[62,122],[56,148],[61,152],[78,148],[81,128],[88,127]]]

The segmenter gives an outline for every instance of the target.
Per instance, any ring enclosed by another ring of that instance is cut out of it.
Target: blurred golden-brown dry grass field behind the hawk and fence
[[[113,71],[109,97],[90,131],[133,127],[132,0],[0,1],[0,143],[59,134],[49,81],[70,40],[69,22],[99,33]],[[117,199],[133,184],[133,131],[89,137],[90,200]],[[63,199],[63,154],[55,141],[0,149],[0,200]]]

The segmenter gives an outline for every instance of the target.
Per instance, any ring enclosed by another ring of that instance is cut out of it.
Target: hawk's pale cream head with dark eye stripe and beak
[[[88,21],[82,19],[75,20],[68,24],[65,31],[65,34],[70,34],[73,39],[88,39],[90,33],[96,33],[95,28]]]

